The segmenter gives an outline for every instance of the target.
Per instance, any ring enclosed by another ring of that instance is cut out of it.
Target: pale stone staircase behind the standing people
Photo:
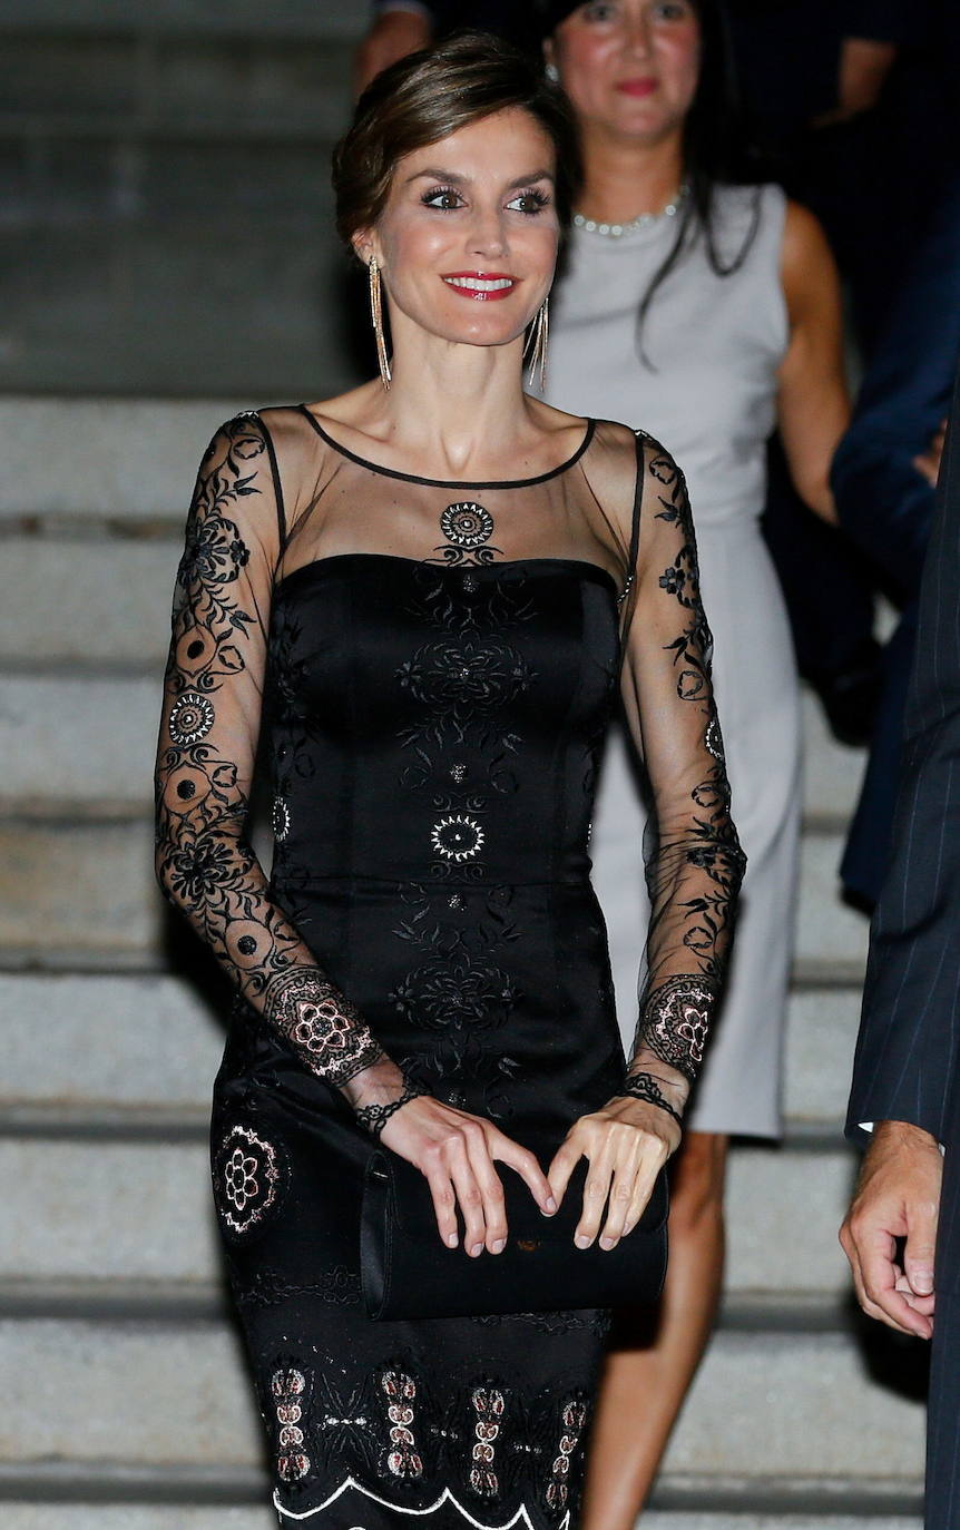
[[[219,985],[152,881],[185,500],[236,409],[355,376],[326,164],[364,6],[0,14],[0,1522],[266,1530],[207,1190]],[[337,327],[331,327],[331,314]],[[723,1322],[649,1530],[917,1530],[923,1354],[860,1325],[836,1226],[867,930],[860,759],[807,707],[782,1148],[730,1175]]]

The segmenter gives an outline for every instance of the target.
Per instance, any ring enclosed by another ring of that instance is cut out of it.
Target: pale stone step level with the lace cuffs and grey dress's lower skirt
[[[792,994],[785,1108],[795,1126],[842,1121],[859,1007],[856,988]],[[162,973],[0,973],[0,1108],[167,1108],[201,1118],[227,1008],[225,991],[211,1005],[196,984]]]

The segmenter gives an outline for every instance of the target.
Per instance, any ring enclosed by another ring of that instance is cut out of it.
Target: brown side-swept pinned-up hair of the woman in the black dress
[[[390,194],[398,161],[470,122],[521,107],[539,124],[556,155],[554,202],[562,234],[580,184],[573,110],[542,64],[496,37],[461,32],[384,69],[357,103],[354,122],[334,150],[337,233],[372,228]]]

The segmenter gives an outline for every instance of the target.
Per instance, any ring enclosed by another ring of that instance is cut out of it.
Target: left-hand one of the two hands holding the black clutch
[[[547,1177],[531,1152],[484,1117],[456,1111],[429,1094],[421,1094],[397,1111],[383,1128],[380,1140],[426,1177],[439,1236],[449,1248],[456,1248],[459,1241],[459,1206],[464,1248],[472,1258],[484,1248],[502,1253],[507,1242],[504,1186],[493,1167],[495,1160],[516,1169],[545,1216],[553,1216],[557,1209]]]

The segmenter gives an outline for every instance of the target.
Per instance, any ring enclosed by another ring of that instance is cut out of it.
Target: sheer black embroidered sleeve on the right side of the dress
[[[746,857],[730,819],[686,485],[651,438],[638,441],[637,491],[623,698],[654,812],[646,973],[625,1092],[678,1115],[703,1062]]]

